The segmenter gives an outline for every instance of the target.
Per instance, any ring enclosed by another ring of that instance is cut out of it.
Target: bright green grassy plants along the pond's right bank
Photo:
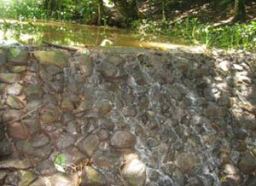
[[[143,34],[160,34],[184,38],[207,48],[256,49],[256,22],[236,23],[230,26],[212,26],[197,19],[186,19],[169,24],[165,20],[138,20],[133,23]]]

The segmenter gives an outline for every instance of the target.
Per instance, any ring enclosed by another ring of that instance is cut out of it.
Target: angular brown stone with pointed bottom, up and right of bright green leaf
[[[78,143],[78,148],[84,154],[87,154],[89,157],[91,157],[99,148],[99,145],[99,137],[97,137],[96,134],[90,134],[89,136],[84,137],[84,139]]]

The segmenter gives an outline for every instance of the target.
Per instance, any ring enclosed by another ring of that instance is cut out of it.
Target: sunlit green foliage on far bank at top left
[[[77,20],[96,15],[98,0],[0,0],[0,17],[18,20]]]

